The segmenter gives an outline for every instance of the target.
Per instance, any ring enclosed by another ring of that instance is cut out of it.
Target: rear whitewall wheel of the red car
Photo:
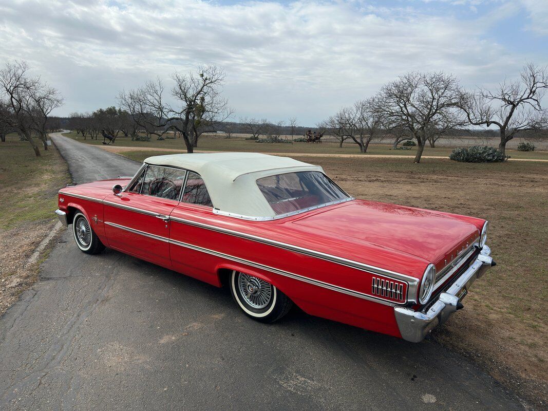
[[[275,286],[262,278],[244,272],[232,271],[232,297],[247,316],[271,323],[286,315],[293,303]]]

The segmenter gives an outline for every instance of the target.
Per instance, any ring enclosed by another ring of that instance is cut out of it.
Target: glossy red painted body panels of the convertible
[[[292,244],[418,279],[427,265],[433,263],[440,270],[451,255],[475,241],[484,223],[482,219],[467,216],[363,200],[279,220],[248,221],[216,215],[211,208],[168,199],[126,192],[122,197],[113,195],[113,185],[124,186],[128,181],[113,179],[66,187],[59,195],[65,200],[59,207],[69,212],[79,209],[88,219],[96,216],[99,221],[92,222],[92,227],[101,241],[122,252],[215,286],[221,285],[221,269],[246,271],[274,284],[311,315],[395,336],[400,335],[393,307],[389,305],[121,230],[105,225],[105,222],[365,294],[371,294],[372,277],[378,277],[374,273],[173,220],[164,222],[152,215],[105,204],[102,200]],[[92,197],[98,202],[73,197],[70,193]]]

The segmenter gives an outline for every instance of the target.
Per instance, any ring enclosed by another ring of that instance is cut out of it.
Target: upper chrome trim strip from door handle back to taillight
[[[295,253],[310,255],[312,257],[321,258],[322,260],[335,262],[336,264],[349,266],[349,267],[352,267],[352,268],[355,268],[355,269],[358,269],[358,270],[367,271],[367,272],[379,274],[379,275],[386,276],[386,277],[396,278],[396,279],[399,279],[400,281],[407,282],[409,284],[409,286],[411,286],[411,284],[413,282],[415,284],[419,282],[419,280],[417,278],[412,277],[412,276],[401,274],[401,273],[398,273],[398,272],[395,272],[395,271],[381,269],[380,267],[375,267],[375,266],[368,265],[368,264],[363,264],[362,262],[347,260],[345,258],[341,258],[341,257],[335,256],[335,255],[330,255],[330,254],[326,254],[326,253],[322,253],[322,252],[311,250],[311,249],[308,249],[308,248],[293,246],[292,244],[282,243],[282,242],[271,240],[271,239],[268,239],[268,238],[254,236],[252,234],[247,234],[247,233],[234,231],[234,230],[230,230],[230,229],[224,229],[222,227],[217,227],[217,226],[212,226],[212,225],[209,225],[209,224],[204,224],[203,222],[186,220],[186,219],[182,219],[182,218],[179,218],[179,217],[175,217],[173,215],[170,217],[170,219],[172,221],[180,222],[182,224],[192,225],[192,226],[200,227],[202,229],[206,229],[206,230],[210,230],[210,231],[217,231],[217,232],[225,233],[225,234],[228,234],[228,235],[231,235],[231,236],[240,237],[240,238],[244,238],[244,239],[249,239],[251,241],[255,241],[255,242],[259,242],[259,243],[263,243],[263,244],[268,244],[269,246],[274,246],[274,247],[286,249],[286,250],[289,250],[289,251],[293,251]]]

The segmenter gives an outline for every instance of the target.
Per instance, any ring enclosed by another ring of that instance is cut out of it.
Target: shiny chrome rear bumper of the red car
[[[476,278],[481,277],[488,267],[494,265],[490,255],[491,249],[488,246],[483,246],[476,260],[446,292],[439,295],[437,301],[427,312],[395,307],[394,314],[402,338],[412,343],[419,343],[434,327],[446,322],[452,313],[461,308],[462,305],[460,305],[457,295],[464,287],[469,289]]]

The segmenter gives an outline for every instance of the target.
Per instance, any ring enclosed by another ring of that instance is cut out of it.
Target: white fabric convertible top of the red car
[[[206,183],[216,209],[256,219],[276,216],[259,190],[257,179],[300,171],[323,173],[318,165],[260,153],[172,154],[149,157],[145,159],[145,163],[184,168],[198,173]]]

